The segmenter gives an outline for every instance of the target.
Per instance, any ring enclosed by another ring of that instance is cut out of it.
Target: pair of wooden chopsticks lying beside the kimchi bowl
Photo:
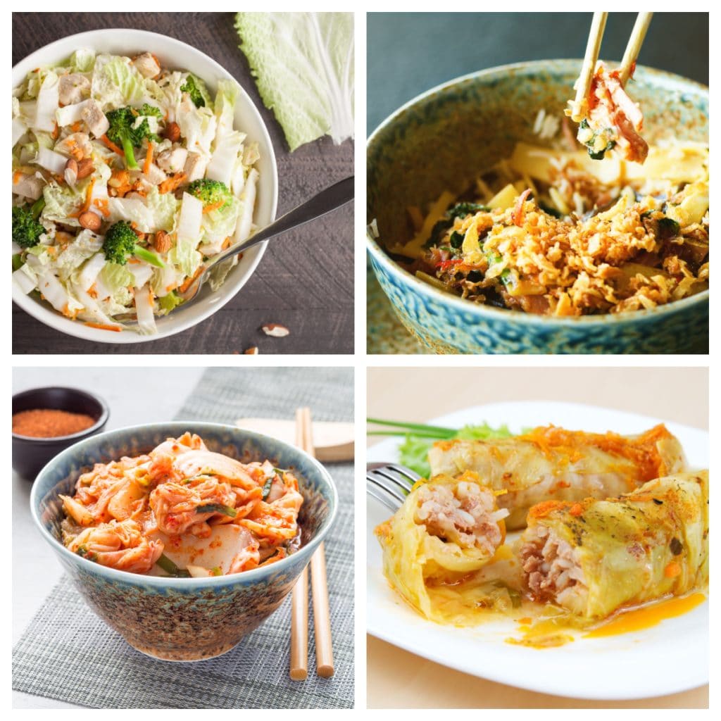
[[[314,456],[313,425],[309,408],[296,410],[296,446]],[[333,666],[333,645],[330,632],[328,585],[325,572],[325,551],[320,544],[311,557],[311,588],[313,591],[313,622],[316,638],[316,671],[328,678]],[[293,587],[291,606],[291,678],[308,678],[308,569],[304,568]]]

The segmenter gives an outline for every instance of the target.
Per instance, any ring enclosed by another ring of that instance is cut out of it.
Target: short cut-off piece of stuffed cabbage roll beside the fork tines
[[[454,583],[490,561],[505,539],[507,515],[473,472],[419,482],[394,516],[376,528],[386,578],[433,618],[427,586]]]

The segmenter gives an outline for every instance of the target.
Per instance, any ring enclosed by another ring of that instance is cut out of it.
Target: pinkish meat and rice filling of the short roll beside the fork
[[[498,527],[503,516],[508,511],[495,509],[493,492],[475,483],[425,485],[418,490],[417,523],[423,523],[431,536],[461,548],[494,554],[503,541]]]

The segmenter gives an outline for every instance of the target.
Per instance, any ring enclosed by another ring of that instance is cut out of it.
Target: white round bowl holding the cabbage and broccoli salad
[[[25,76],[34,68],[61,63],[78,48],[92,48],[97,53],[131,57],[147,50],[159,58],[162,67],[187,70],[202,78],[213,94],[216,92],[218,80],[235,80],[216,61],[208,58],[200,50],[181,43],[180,40],[145,30],[118,28],[81,32],[78,35],[63,37],[36,50],[12,68],[12,87],[21,84]],[[278,205],[278,168],[275,165],[273,143],[270,142],[265,123],[242,87],[235,107],[235,127],[247,133],[249,141],[256,141],[260,150],[260,160],[257,162],[260,177],[253,221],[262,228],[275,220],[275,210]],[[140,335],[131,330],[116,333],[89,327],[82,322],[63,317],[47,304],[26,296],[19,288],[13,287],[12,298],[26,313],[40,322],[77,338],[101,343],[138,343],[156,340],[180,333],[221,309],[247,283],[265,252],[265,245],[265,243],[259,244],[244,253],[218,291],[213,292],[206,287],[202,291],[203,295],[192,306],[185,310],[180,308],[169,316],[156,319],[158,332],[155,335]]]

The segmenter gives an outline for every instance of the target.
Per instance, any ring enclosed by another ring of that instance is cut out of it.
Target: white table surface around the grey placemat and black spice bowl
[[[172,420],[205,368],[14,368],[12,392],[63,385],[97,393],[110,407],[106,430]],[[30,518],[30,482],[12,474],[12,643],[61,577],[61,565]],[[76,708],[13,691],[14,708]]]

